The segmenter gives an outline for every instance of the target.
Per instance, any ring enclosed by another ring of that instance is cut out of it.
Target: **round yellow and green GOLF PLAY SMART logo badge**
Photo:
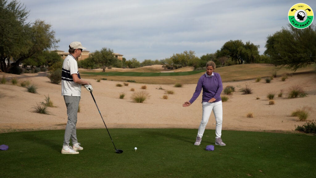
[[[297,29],[305,29],[312,24],[314,13],[312,8],[304,3],[297,3],[289,10],[289,22]]]

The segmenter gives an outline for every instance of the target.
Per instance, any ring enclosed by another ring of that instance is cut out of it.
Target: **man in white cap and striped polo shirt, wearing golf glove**
[[[76,58],[81,55],[82,44],[74,41],[69,45],[69,55],[64,59],[62,68],[61,94],[67,106],[68,121],[65,129],[64,144],[61,150],[62,154],[79,154],[78,150],[83,148],[77,140],[76,123],[79,101],[81,97],[81,86],[84,85],[89,92],[92,92],[92,86],[88,81],[82,80],[78,71]],[[72,147],[69,145],[70,139]]]

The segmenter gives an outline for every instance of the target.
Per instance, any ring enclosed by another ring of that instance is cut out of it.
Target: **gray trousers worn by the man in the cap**
[[[76,124],[80,96],[64,96],[64,100],[67,106],[68,121],[65,129],[63,146],[67,146],[70,143],[70,138],[72,144],[78,143]]]

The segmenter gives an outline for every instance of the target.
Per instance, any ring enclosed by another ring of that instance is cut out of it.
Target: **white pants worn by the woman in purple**
[[[221,137],[222,136],[222,123],[223,123],[222,101],[218,101],[215,103],[203,102],[202,110],[203,110],[202,120],[197,131],[197,136],[201,138],[203,137],[206,124],[209,122],[210,115],[213,111],[214,116],[215,116],[215,121],[216,121],[216,128],[215,128],[216,137],[215,138]]]

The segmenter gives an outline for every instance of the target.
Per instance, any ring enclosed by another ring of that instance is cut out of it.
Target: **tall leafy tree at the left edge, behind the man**
[[[28,14],[20,2],[0,0],[0,64],[4,72],[12,72],[22,61],[37,53],[57,48],[59,40],[55,39],[51,25],[41,20],[26,22]],[[10,59],[15,61],[11,65]]]

